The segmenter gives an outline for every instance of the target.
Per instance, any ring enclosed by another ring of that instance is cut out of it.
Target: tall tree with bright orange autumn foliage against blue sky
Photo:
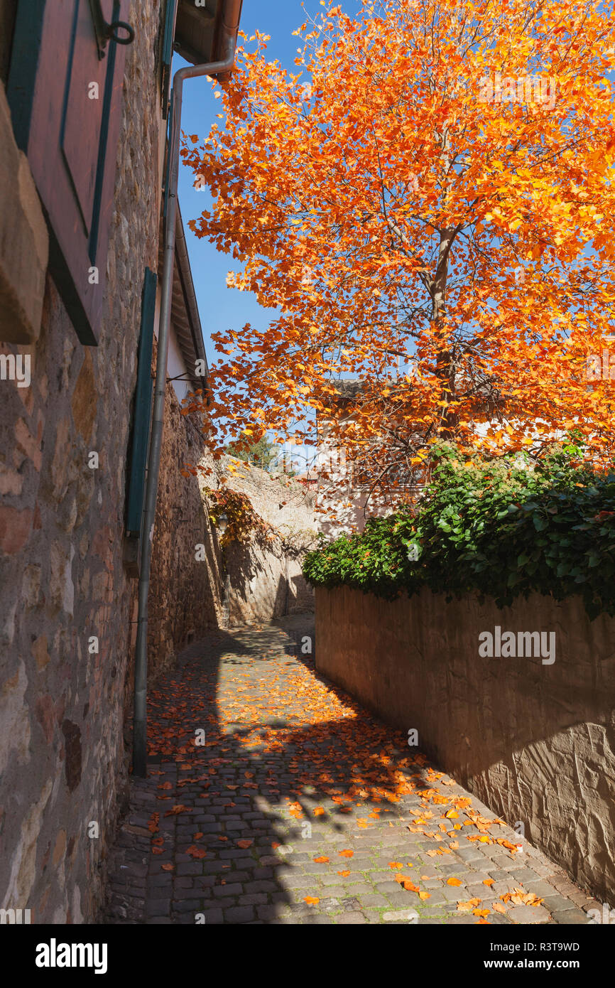
[[[614,33],[611,2],[384,0],[306,20],[296,74],[246,40],[223,128],[183,148],[213,197],[192,230],[276,308],[216,337],[217,442],[318,417],[373,477],[440,439],[577,430],[611,460],[615,384],[587,367],[615,330]]]

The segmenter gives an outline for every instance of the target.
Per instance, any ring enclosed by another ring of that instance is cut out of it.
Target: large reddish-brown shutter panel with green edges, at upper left
[[[129,0],[100,4],[106,21],[126,19]],[[49,228],[49,273],[89,346],[107,288],[125,52],[110,41],[99,56],[90,0],[19,0],[7,99]]]

